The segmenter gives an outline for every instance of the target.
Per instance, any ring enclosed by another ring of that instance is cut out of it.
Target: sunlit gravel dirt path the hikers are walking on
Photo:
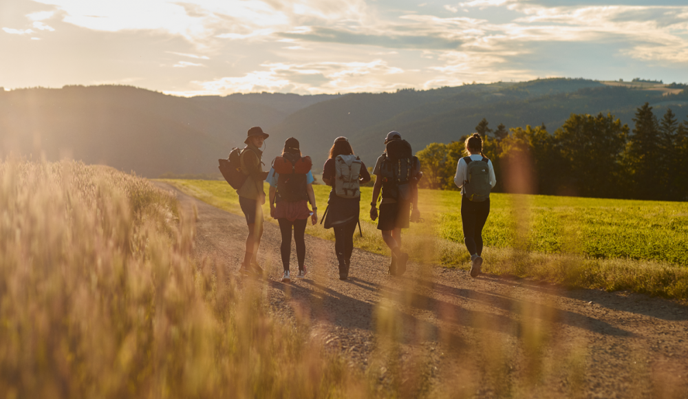
[[[189,214],[197,208],[197,255],[237,270],[244,217],[160,185],[175,191]],[[310,316],[311,334],[341,348],[352,363],[382,365],[392,352],[378,348],[394,336],[402,368],[444,381],[451,395],[688,398],[685,306],[490,274],[471,279],[464,270],[418,264],[404,277],[390,277],[389,257],[357,249],[350,280],[340,281],[334,243],[310,236],[309,278],[281,283],[279,228],[265,226],[259,263],[272,307]],[[380,374],[384,379],[385,368]]]

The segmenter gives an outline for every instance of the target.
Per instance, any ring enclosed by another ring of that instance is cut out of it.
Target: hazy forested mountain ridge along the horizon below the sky
[[[217,173],[217,158],[243,146],[246,131],[270,134],[264,162],[288,137],[301,142],[320,171],[334,138],[346,136],[367,166],[399,131],[419,151],[459,140],[482,118],[495,129],[544,123],[552,133],[572,113],[611,112],[632,123],[636,107],[671,107],[680,120],[688,94],[610,87],[595,80],[539,79],[394,93],[299,96],[232,94],[183,98],[129,86],[65,86],[0,91],[0,156],[45,154],[103,163],[146,177]]]

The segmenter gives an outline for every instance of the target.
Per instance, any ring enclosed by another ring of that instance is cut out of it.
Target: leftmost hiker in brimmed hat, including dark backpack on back
[[[241,274],[263,274],[256,259],[261,237],[263,237],[263,204],[265,204],[265,191],[263,182],[268,176],[264,172],[261,162],[263,143],[268,138],[260,127],[248,129],[248,137],[244,141],[244,149],[233,149],[229,158],[219,160],[219,170],[227,182],[237,190],[239,206],[246,217],[248,236],[246,237],[246,252],[241,263]]]

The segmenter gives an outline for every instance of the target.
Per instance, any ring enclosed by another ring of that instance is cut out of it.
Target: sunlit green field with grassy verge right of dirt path
[[[163,180],[184,193],[241,215],[238,197],[226,182]],[[330,188],[314,186],[319,217]],[[267,185],[266,185],[267,192]],[[372,188],[361,188],[363,237],[354,245],[388,255],[367,213]],[[424,223],[404,230],[411,259],[468,268],[463,244],[460,195],[420,191]],[[264,205],[270,219],[268,204]],[[332,230],[309,224],[306,233],[334,241]],[[688,204],[603,200],[544,195],[491,195],[484,229],[484,271],[532,277],[570,287],[631,290],[688,301]]]

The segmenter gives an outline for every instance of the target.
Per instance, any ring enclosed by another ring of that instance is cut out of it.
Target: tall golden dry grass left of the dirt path
[[[0,184],[0,398],[363,396],[308,320],[194,263],[171,194],[79,162],[8,160]]]

